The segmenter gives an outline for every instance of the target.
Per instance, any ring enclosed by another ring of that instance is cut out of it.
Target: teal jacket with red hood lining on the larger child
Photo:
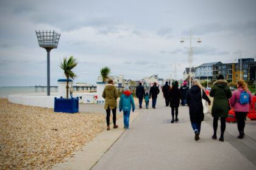
[[[122,109],[124,111],[130,111],[131,105],[132,109],[135,109],[135,104],[132,95],[130,95],[129,91],[124,91],[124,94],[121,95],[119,101],[119,109]]]

